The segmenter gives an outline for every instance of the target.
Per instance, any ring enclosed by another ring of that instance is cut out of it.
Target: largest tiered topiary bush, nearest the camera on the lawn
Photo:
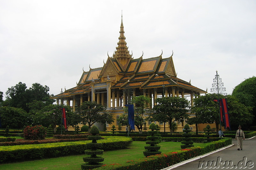
[[[103,150],[99,149],[102,148],[102,143],[97,143],[97,140],[101,139],[101,136],[96,136],[100,133],[98,127],[93,126],[90,130],[90,133],[92,133],[92,136],[88,136],[88,139],[92,140],[92,143],[87,144],[88,148],[90,149],[87,149],[84,152],[85,154],[91,156],[86,156],[83,158],[84,162],[87,163],[81,164],[82,170],[93,169],[104,165],[103,163],[99,163],[103,162],[104,158],[101,156],[97,156],[103,154]]]

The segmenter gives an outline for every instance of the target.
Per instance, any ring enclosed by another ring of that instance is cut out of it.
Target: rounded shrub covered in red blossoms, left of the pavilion
[[[27,140],[42,140],[45,138],[47,129],[42,125],[27,126],[23,131],[23,136]]]

